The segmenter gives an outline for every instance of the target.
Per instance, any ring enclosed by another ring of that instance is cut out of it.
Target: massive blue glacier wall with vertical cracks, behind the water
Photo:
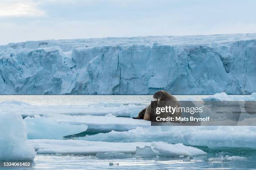
[[[0,94],[251,94],[256,34],[41,40],[0,46]]]

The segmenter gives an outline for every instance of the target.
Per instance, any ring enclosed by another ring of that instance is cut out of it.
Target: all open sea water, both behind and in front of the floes
[[[175,95],[178,100],[201,100],[208,95]],[[242,95],[241,95],[242,96]],[[152,95],[1,95],[0,102],[17,100],[31,105],[85,105],[90,103],[141,103],[149,104]],[[22,108],[21,108],[22,109]],[[53,113],[54,114],[54,113]],[[197,147],[207,156],[194,158],[154,157],[132,155],[124,159],[99,159],[95,155],[41,155],[37,154],[31,168],[26,169],[256,169],[256,150],[250,148]],[[8,154],[8,153],[7,153]],[[235,156],[235,157],[232,157]],[[2,168],[14,169],[14,168]],[[24,169],[24,168],[19,168]]]

